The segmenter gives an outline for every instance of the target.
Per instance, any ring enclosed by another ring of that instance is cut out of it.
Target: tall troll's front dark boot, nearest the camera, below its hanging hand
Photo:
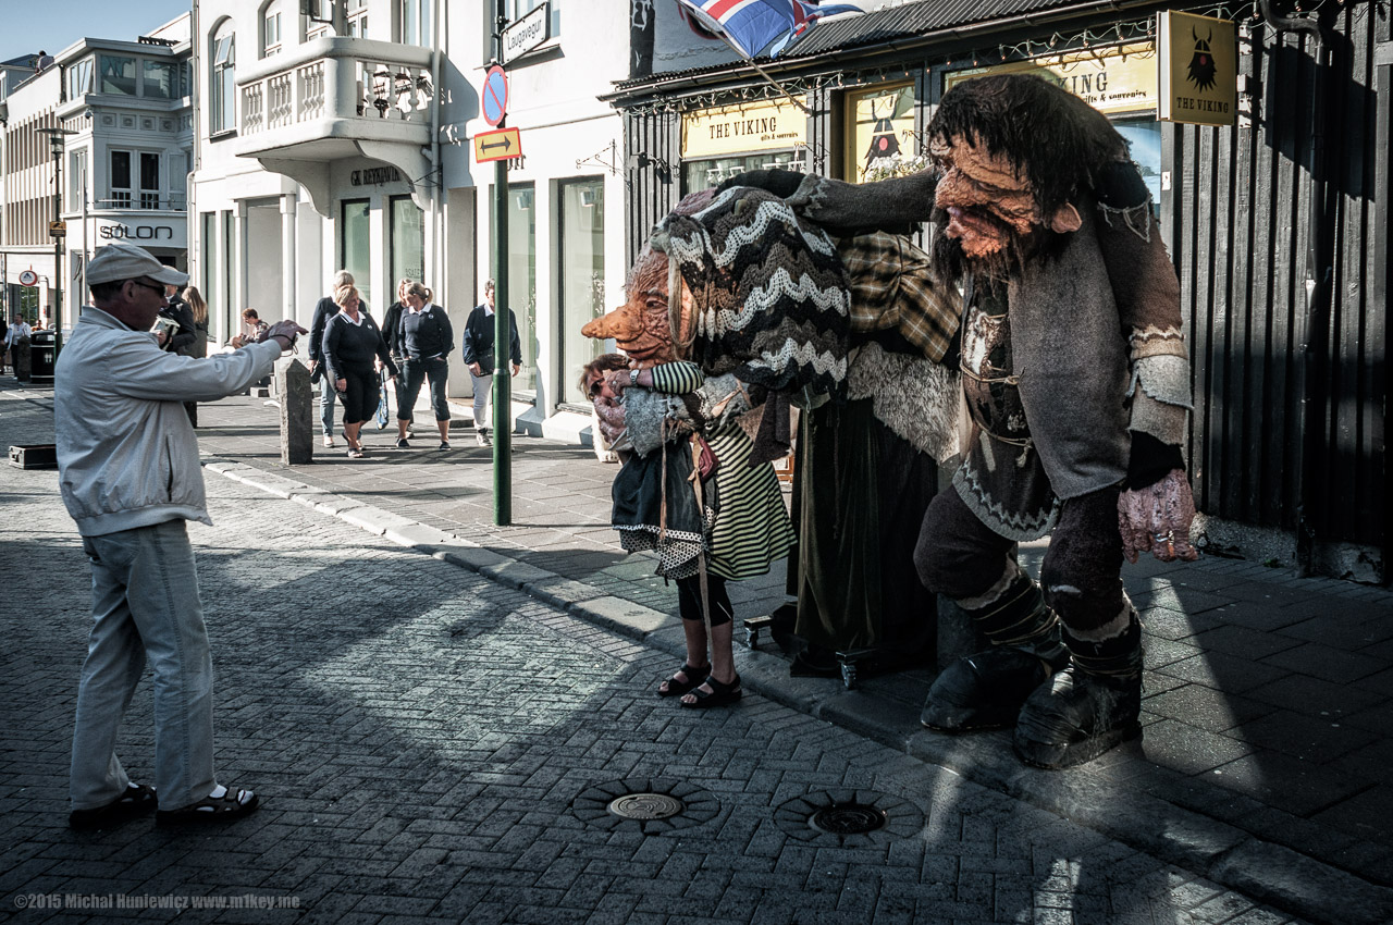
[[[1064,630],[1070,664],[1031,694],[1015,723],[1015,754],[1036,768],[1073,768],[1141,736],[1141,623],[1087,642]]]

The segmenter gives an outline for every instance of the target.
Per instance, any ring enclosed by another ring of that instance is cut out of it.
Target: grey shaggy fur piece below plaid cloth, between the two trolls
[[[847,397],[873,398],[876,419],[936,462],[958,451],[961,390],[953,369],[875,343],[857,351],[847,373]]]

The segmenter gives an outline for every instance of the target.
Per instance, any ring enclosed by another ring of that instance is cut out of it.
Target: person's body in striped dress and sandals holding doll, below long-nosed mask
[[[631,447],[614,479],[614,528],[625,550],[656,549],[657,574],[677,581],[687,642],[657,695],[694,709],[734,704],[744,691],[726,582],[768,573],[794,542],[773,465],[749,464],[754,446],[737,421],[749,389],[690,362],[614,369],[614,359],[600,357],[582,379],[606,436]]]

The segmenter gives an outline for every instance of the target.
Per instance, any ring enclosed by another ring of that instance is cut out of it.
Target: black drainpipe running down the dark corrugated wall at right
[[[1312,571],[1315,557],[1315,528],[1311,506],[1316,493],[1315,460],[1325,449],[1326,354],[1329,352],[1330,300],[1334,286],[1333,238],[1329,230],[1330,182],[1325,167],[1326,118],[1330,109],[1325,95],[1330,81],[1330,35],[1311,17],[1284,17],[1272,8],[1273,0],[1259,0],[1262,18],[1279,32],[1302,32],[1314,43],[1315,74],[1311,81],[1311,203],[1307,219],[1307,311],[1301,332],[1301,364],[1297,366],[1301,405],[1297,426],[1301,449],[1297,456],[1297,568],[1300,574]]]

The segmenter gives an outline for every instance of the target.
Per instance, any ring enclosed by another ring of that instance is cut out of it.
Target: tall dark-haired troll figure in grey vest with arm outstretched
[[[1027,763],[1077,765],[1141,736],[1123,557],[1197,557],[1178,280],[1127,142],[1081,99],[1035,77],[978,78],[943,96],[928,135],[932,171],[784,192],[829,228],[933,223],[935,270],[964,295],[971,429],[914,559],[993,645],[939,676],[921,719],[1014,724]],[[1036,584],[1013,543],[1045,534]]]

